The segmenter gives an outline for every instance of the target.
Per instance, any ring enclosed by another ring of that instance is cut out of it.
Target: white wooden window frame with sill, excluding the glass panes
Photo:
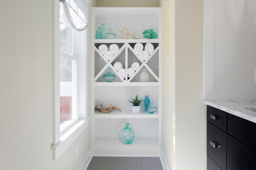
[[[68,149],[87,128],[86,117],[86,30],[80,32],[78,62],[78,120],[73,120],[60,132],[60,0],[53,1],[53,160]],[[74,34],[75,35],[75,34]],[[75,45],[76,47],[78,45]],[[65,55],[64,53],[61,55]],[[68,56],[66,56],[68,57]]]

